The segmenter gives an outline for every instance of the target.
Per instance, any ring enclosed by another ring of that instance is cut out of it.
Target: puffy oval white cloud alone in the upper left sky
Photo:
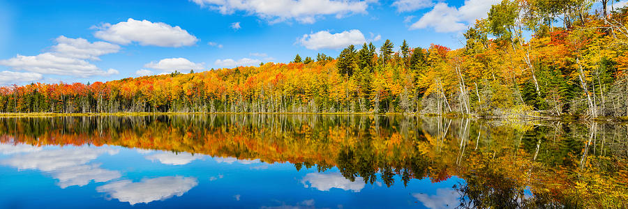
[[[94,36],[102,40],[128,45],[137,42],[140,45],[155,45],[159,47],[182,47],[194,45],[198,39],[179,26],[170,26],[163,22],[148,20],[133,20],[117,24],[105,23],[94,27],[98,29]]]

